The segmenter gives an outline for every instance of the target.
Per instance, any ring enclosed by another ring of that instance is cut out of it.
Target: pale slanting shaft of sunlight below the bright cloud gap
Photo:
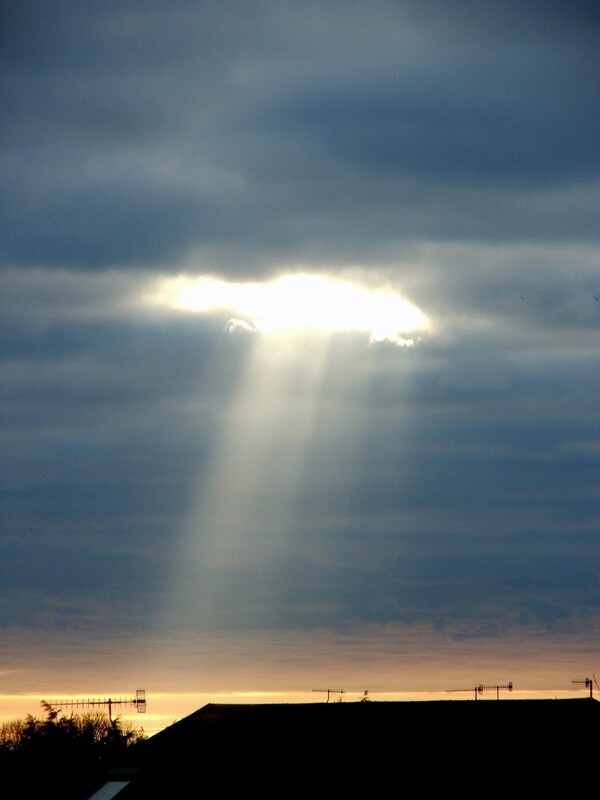
[[[285,554],[327,349],[301,338],[254,342],[168,592],[179,625],[223,620],[247,576],[264,581]]]

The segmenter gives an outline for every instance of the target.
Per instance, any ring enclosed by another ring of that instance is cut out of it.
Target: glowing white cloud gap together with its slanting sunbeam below
[[[179,278],[163,282],[153,297],[184,312],[235,314],[225,326],[230,333],[255,334],[159,616],[167,628],[176,620],[190,631],[228,628],[233,619],[268,626],[297,527],[332,337],[366,333],[370,342],[407,345],[407,333],[426,327],[427,318],[393,292],[313,276],[251,286]],[[352,397],[357,376],[350,372],[343,391]]]

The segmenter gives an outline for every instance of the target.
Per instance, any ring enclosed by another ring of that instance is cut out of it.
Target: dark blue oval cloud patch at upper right
[[[479,69],[476,76],[475,70],[469,63],[450,74],[440,69],[427,85],[409,74],[388,85],[340,87],[280,109],[289,122],[285,133],[314,132],[330,157],[369,174],[418,175],[461,187],[523,188],[597,172],[594,104],[589,82],[578,85],[579,69],[565,76],[551,66],[525,87],[519,65]],[[564,95],[552,107],[549,84]],[[451,88],[457,86],[460,93]]]

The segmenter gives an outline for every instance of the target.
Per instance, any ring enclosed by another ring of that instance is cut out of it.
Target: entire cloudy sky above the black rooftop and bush
[[[5,0],[0,719],[585,694],[599,62],[578,0]]]

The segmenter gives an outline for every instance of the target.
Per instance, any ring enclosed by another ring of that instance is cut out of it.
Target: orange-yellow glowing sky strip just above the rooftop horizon
[[[598,654],[590,642],[599,636],[598,625],[584,635],[544,631],[541,637],[515,628],[502,639],[483,640],[406,625],[357,627],[343,637],[328,629],[171,633],[110,643],[82,638],[66,658],[60,636],[7,630],[0,723],[28,714],[43,718],[42,700],[127,698],[137,689],[146,692],[146,712],[123,706],[115,716],[147,735],[208,703],[324,702],[312,692],[319,687],[343,689],[342,702],[358,702],[365,691],[371,701],[471,701],[479,684],[512,682],[513,691],[500,690],[500,700],[565,699],[589,697],[581,681],[592,678],[598,699]],[[457,689],[464,691],[448,692]],[[478,700],[496,700],[495,690]]]

